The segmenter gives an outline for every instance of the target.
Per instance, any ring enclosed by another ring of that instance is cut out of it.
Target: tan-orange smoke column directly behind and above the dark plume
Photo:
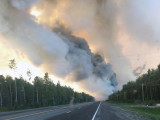
[[[40,23],[52,28],[57,20],[61,21],[71,28],[73,34],[85,37],[94,52],[104,54],[112,63],[121,88],[122,84],[136,78],[119,44],[122,3],[117,0],[47,0],[34,9],[43,9],[38,17]],[[86,31],[87,35],[83,35]]]

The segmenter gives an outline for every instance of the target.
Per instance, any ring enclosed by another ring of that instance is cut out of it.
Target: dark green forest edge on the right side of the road
[[[109,96],[109,100],[144,104],[160,102],[160,65],[156,69],[149,69],[136,81],[123,85],[121,91]]]

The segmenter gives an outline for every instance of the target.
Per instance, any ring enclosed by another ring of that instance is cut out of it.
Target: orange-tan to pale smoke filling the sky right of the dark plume
[[[74,35],[85,37],[92,51],[104,54],[112,63],[121,88],[136,79],[133,70],[137,66],[146,60],[155,65],[143,53],[159,43],[160,20],[156,15],[159,3],[157,0],[44,0],[33,9],[41,11],[37,17],[40,23],[52,28],[57,20],[61,21]],[[135,65],[135,59],[126,53],[137,56],[140,51],[143,59]]]

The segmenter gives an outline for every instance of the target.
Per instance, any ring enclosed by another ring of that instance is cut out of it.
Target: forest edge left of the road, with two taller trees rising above
[[[9,63],[11,69],[16,69],[15,60]],[[31,79],[31,72],[26,73]],[[72,88],[61,86],[60,82],[54,84],[48,73],[44,77],[36,76],[33,82],[11,76],[0,75],[0,108],[24,109],[94,101],[94,98],[84,92],[78,93]]]

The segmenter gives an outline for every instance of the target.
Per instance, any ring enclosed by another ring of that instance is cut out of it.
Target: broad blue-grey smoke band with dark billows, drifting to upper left
[[[27,13],[39,1],[0,0],[0,34],[37,66],[68,81],[77,81],[98,99],[115,91],[116,74],[82,39],[56,23],[53,30],[37,24]]]

